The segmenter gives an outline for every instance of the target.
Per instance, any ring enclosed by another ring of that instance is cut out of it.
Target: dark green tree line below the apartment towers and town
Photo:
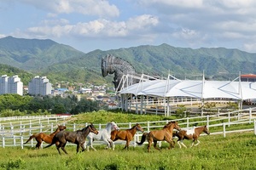
[[[20,96],[19,94],[0,95],[0,116],[16,116],[19,112],[26,114],[61,114],[70,113],[73,115],[81,112],[99,111],[105,109],[98,101],[80,99],[77,97],[61,98],[61,96]],[[10,114],[10,112],[12,114]],[[19,115],[19,114],[18,114]]]

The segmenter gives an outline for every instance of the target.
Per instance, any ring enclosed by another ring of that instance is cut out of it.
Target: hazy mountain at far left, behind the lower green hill
[[[62,60],[84,53],[52,40],[4,37],[0,39],[0,59],[5,65],[26,71],[40,71]]]

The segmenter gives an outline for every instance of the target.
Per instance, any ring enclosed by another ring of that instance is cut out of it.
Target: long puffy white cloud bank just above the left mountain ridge
[[[128,21],[92,20],[71,25],[67,20],[43,20],[41,26],[27,29],[26,34],[32,37],[128,37],[140,31],[142,36],[150,34],[150,28],[158,24],[152,15],[141,15]],[[136,36],[137,38],[140,36]]]

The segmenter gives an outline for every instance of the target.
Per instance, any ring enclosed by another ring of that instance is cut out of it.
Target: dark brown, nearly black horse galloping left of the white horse
[[[89,133],[98,133],[96,128],[93,126],[93,124],[88,125],[87,127],[84,127],[82,130],[77,130],[74,132],[68,132],[68,131],[61,131],[60,133],[57,133],[52,140],[51,144],[45,146],[44,148],[48,148],[52,144],[56,145],[56,148],[61,155],[61,150],[63,150],[66,154],[67,151],[65,150],[65,145],[68,142],[71,142],[73,144],[77,144],[77,153],[79,152],[79,148],[82,147],[82,151],[84,151],[84,142],[86,139],[86,136]]]

